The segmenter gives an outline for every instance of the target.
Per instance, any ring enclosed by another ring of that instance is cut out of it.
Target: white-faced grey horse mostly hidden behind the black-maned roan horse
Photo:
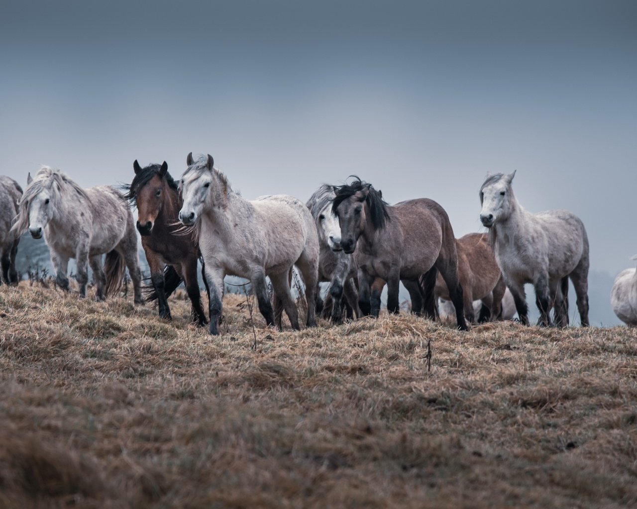
[[[330,282],[332,321],[338,322],[342,318],[343,296],[356,317],[361,316],[361,310],[358,307],[358,290],[354,283],[357,274],[354,256],[346,254],[341,248],[341,227],[338,218],[332,213],[332,200],[335,196],[332,186],[324,184],[311,195],[306,205],[310,209],[318,232],[318,280]]]

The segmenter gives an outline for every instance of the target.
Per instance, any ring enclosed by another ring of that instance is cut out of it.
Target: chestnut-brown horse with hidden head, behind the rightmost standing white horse
[[[464,317],[469,323],[475,323],[473,301],[482,300],[485,305],[478,321],[497,319],[502,310],[506,284],[489,246],[487,234],[464,235],[456,239],[455,249],[464,298]],[[449,300],[447,284],[440,274],[436,279],[436,300],[438,297]]]

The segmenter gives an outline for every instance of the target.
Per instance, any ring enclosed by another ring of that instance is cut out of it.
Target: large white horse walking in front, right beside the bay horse
[[[299,329],[288,279],[293,265],[305,283],[307,326],[315,326],[318,237],[308,207],[287,195],[243,199],[213,167],[210,155],[193,160],[189,153],[186,163],[188,169],[180,183],[183,206],[179,219],[186,226],[198,221],[199,249],[210,289],[210,333],[218,334],[225,275],[250,279],[261,314],[268,325],[274,325],[266,286],[269,276],[292,328]]]

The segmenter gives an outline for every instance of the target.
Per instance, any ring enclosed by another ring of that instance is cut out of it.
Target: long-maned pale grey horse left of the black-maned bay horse
[[[36,178],[29,174],[13,231],[22,235],[27,228],[34,239],[44,234],[57,272],[55,282],[62,289],[69,289],[66,272],[69,258],[75,258],[80,296],[86,296],[90,264],[97,284],[96,298],[104,300],[121,287],[125,263],[135,303],[144,302],[135,222],[114,187],[83,189],[61,171],[43,166]]]

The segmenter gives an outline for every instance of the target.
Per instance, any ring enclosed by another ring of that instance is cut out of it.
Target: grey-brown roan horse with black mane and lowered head
[[[421,299],[422,305],[417,302],[414,309],[424,309],[434,319],[434,289],[440,271],[450,289],[458,328],[466,330],[454,230],[445,210],[428,199],[389,206],[371,184],[359,178],[348,185],[334,186],[334,192],[333,213],[341,227],[341,247],[345,253],[354,253],[358,266],[362,313],[378,316],[380,291],[376,289],[371,295],[371,286],[380,278],[387,282],[389,312],[399,310],[399,282],[403,281],[412,305],[414,298]]]

